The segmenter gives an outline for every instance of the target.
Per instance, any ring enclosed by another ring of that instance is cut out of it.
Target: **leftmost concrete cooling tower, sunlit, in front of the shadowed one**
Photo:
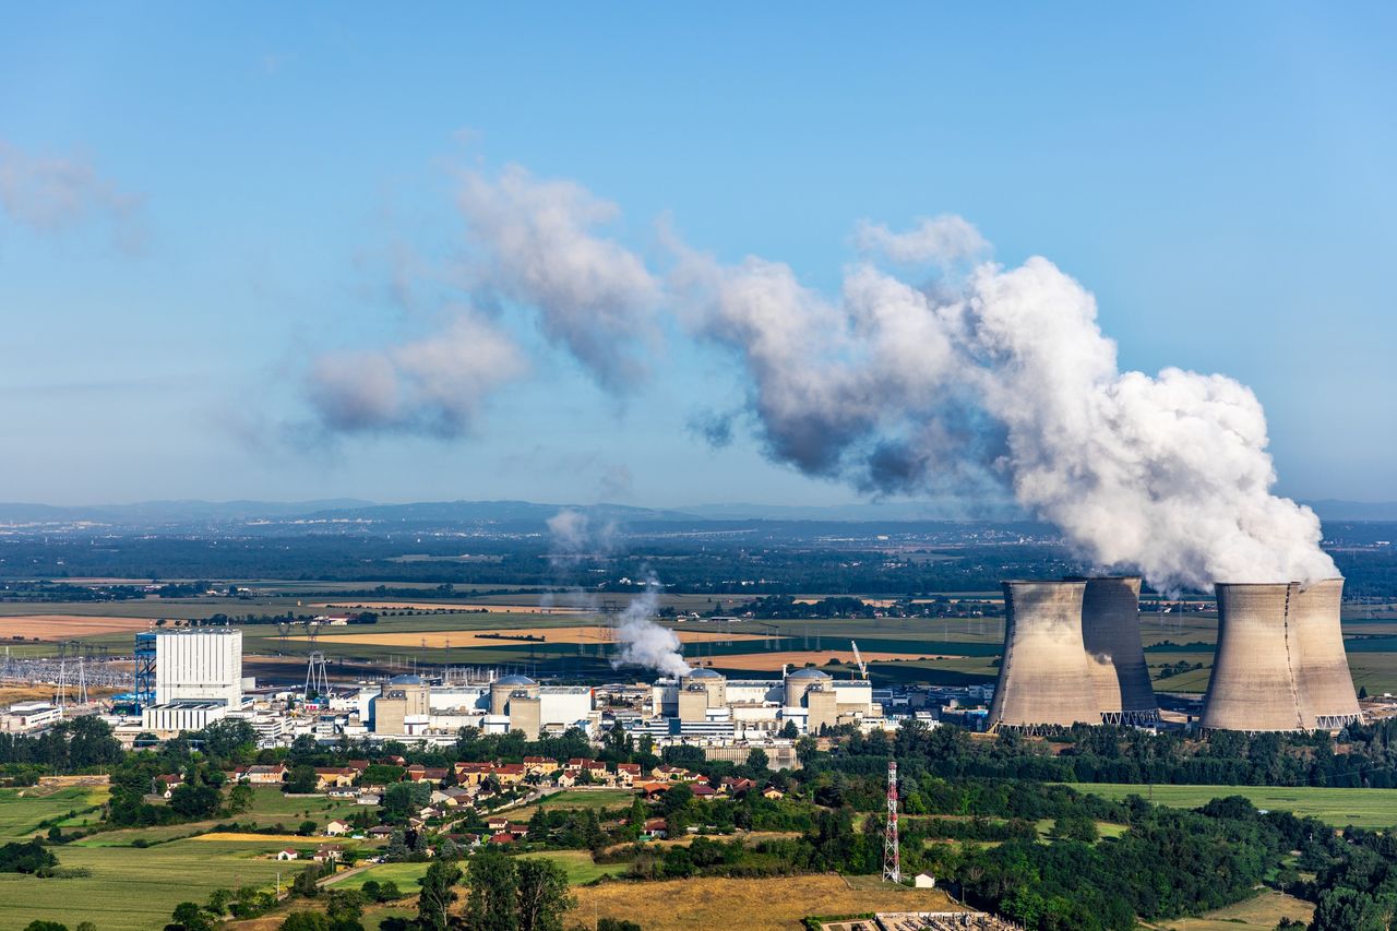
[[[1004,656],[989,720],[1037,730],[1099,724],[1081,639],[1085,582],[1006,582]]]

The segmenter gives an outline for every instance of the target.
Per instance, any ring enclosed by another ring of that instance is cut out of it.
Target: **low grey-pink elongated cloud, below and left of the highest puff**
[[[331,431],[458,438],[472,429],[490,391],[527,368],[507,334],[461,312],[448,327],[415,342],[320,356],[307,390]]]

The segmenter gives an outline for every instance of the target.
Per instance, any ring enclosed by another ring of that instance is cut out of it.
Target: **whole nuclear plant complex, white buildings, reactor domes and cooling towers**
[[[236,626],[180,626],[136,635],[134,702],[112,712],[134,741],[197,731],[224,717],[251,723],[265,745],[299,735],[450,742],[461,728],[527,738],[620,727],[657,745],[770,746],[793,759],[795,737],[835,727],[891,730],[916,716],[971,730],[1045,732],[1077,724],[1189,727],[1248,732],[1338,730],[1361,720],[1340,630],[1343,579],[1218,583],[1218,644],[1201,707],[1161,717],[1140,635],[1139,576],[1003,583],[1004,642],[993,689],[909,698],[880,689],[862,660],[844,678],[814,665],[729,678],[693,667],[652,682],[581,685],[510,670],[437,670],[330,685],[312,651],[303,688],[243,677]],[[858,656],[858,647],[854,647]],[[988,700],[988,710],[978,707]],[[117,713],[120,710],[122,713]],[[46,703],[6,716],[10,730],[57,720]]]

